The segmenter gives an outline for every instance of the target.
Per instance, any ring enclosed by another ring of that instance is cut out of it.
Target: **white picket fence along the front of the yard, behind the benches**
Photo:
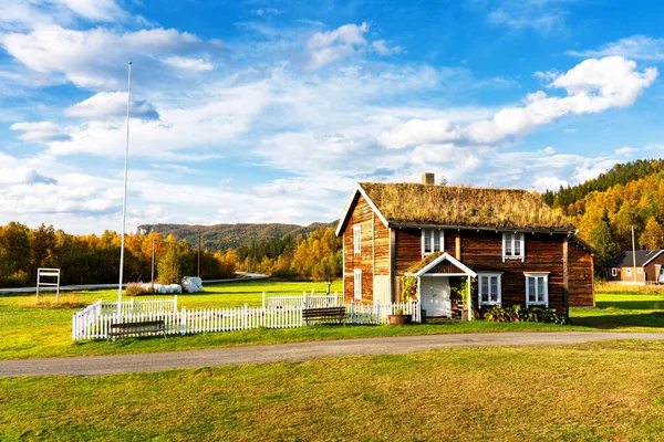
[[[252,328],[302,327],[302,305],[239,308],[180,309],[118,314],[103,313],[102,302],[92,304],[73,317],[73,340],[105,339],[111,324],[164,320],[167,335],[186,335],[207,332],[232,332]],[[346,305],[346,324],[387,324],[387,315],[402,309],[421,322],[419,302],[385,305]]]

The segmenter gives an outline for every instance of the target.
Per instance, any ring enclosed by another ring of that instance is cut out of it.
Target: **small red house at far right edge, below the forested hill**
[[[625,251],[606,263],[606,281],[664,283],[664,250]]]

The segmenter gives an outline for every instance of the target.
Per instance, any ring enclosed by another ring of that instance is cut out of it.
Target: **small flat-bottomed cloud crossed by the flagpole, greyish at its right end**
[[[106,118],[125,116],[127,112],[126,92],[100,92],[83,102],[64,109],[64,113],[82,118]],[[132,117],[159,119],[155,107],[145,99],[132,97]]]

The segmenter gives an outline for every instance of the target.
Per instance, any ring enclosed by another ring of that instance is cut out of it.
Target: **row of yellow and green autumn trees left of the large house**
[[[116,283],[121,240],[113,231],[73,235],[45,224],[37,229],[18,222],[0,225],[0,286],[34,286],[38,267],[60,269],[63,285]],[[187,241],[160,233],[127,234],[124,282],[151,281],[153,240],[158,283],[179,283],[183,276],[197,274],[198,250]],[[298,239],[260,241],[226,252],[203,250],[200,275],[227,278],[239,270],[283,278],[329,280],[341,275],[341,262],[340,240],[331,229],[321,228]]]

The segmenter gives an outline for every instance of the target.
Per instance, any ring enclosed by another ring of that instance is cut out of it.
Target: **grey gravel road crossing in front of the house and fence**
[[[153,354],[0,361],[0,377],[103,376],[239,364],[299,361],[339,356],[395,355],[449,347],[547,346],[608,339],[664,339],[664,333],[479,333],[309,341]]]

